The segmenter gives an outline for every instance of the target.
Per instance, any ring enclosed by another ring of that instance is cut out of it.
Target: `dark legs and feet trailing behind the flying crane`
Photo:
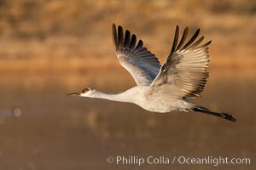
[[[229,121],[236,122],[236,118],[233,117],[230,113],[225,113],[225,112],[218,113],[218,112],[210,111],[207,108],[202,107],[202,106],[196,106],[193,109],[193,111],[199,111],[201,113],[206,113],[206,114],[209,114],[209,115],[212,115],[212,116],[218,116],[218,117],[227,119]]]

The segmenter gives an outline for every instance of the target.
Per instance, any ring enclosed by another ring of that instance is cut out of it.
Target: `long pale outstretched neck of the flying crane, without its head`
[[[104,94],[100,91],[96,91],[95,94],[93,94],[92,96],[92,98],[108,99],[108,100],[127,102],[127,103],[134,103],[133,97],[134,97],[134,93],[132,92],[131,89],[121,94]]]

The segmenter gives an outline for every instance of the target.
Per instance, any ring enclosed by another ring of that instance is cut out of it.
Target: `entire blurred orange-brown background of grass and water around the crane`
[[[177,25],[201,28],[210,77],[195,103],[238,122],[198,113],[157,114],[137,105],[66,98],[85,87],[119,93],[135,85],[119,65],[111,26],[143,39],[163,63]],[[0,169],[139,169],[108,156],[256,158],[256,3],[224,1],[0,1]],[[143,165],[144,169],[213,169]]]

